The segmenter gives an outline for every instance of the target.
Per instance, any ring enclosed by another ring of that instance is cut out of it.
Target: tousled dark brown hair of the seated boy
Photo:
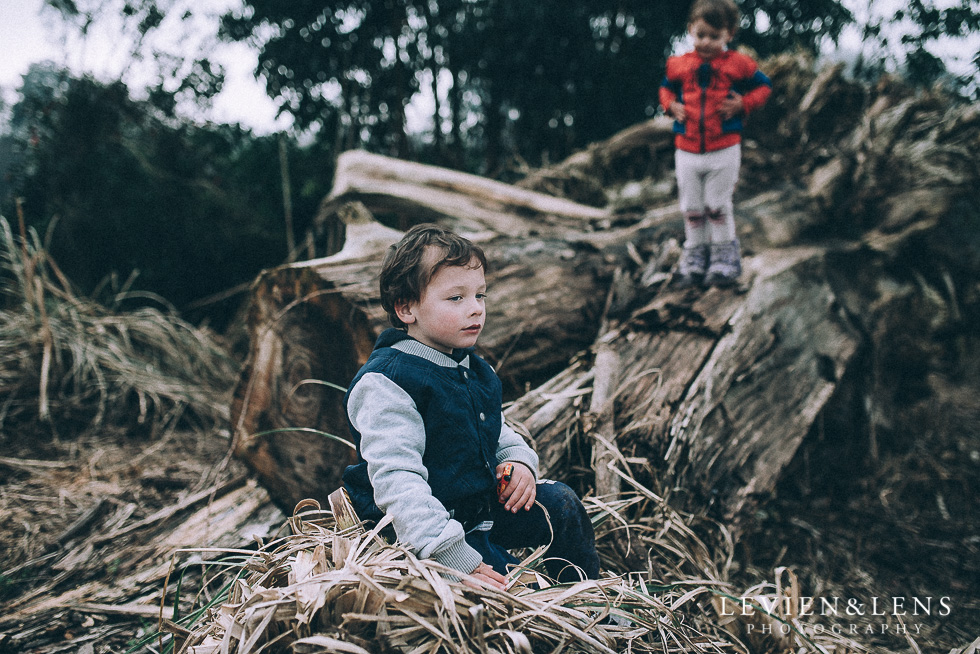
[[[423,262],[429,247],[441,251],[432,265]],[[474,259],[486,272],[487,256],[479,245],[438,225],[412,227],[388,248],[381,262],[381,306],[388,313],[388,320],[403,329],[405,323],[395,314],[396,302],[418,302],[437,270],[443,266],[469,266]]]

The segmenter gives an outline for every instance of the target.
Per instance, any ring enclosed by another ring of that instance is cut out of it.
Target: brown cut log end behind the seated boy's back
[[[367,360],[374,329],[310,268],[284,268],[253,291],[252,353],[232,404],[234,454],[284,511],[325,500],[352,449],[343,389]],[[291,431],[295,430],[295,431]]]

